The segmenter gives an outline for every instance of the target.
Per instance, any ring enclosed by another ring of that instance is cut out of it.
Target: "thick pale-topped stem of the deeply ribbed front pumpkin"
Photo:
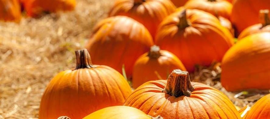
[[[163,92],[175,97],[189,97],[193,90],[194,88],[191,85],[188,72],[176,69],[169,75],[167,85]]]

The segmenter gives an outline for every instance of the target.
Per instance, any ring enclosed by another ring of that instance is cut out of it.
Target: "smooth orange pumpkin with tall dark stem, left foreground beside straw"
[[[108,66],[93,65],[86,49],[75,51],[77,66],[57,74],[40,102],[40,119],[71,119],[108,106],[122,105],[131,94],[124,77]]]

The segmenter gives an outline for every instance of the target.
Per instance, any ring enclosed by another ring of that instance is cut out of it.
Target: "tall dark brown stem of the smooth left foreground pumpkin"
[[[89,55],[87,49],[76,50],[75,55],[77,60],[76,69],[94,68],[91,62],[91,56]]]

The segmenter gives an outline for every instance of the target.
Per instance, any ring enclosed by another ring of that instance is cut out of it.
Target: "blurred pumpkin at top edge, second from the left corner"
[[[75,9],[75,0],[23,0],[27,15],[38,17],[46,12],[71,11]]]

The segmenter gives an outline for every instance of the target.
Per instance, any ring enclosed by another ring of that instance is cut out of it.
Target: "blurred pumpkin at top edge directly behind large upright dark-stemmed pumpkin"
[[[189,0],[185,4],[186,9],[199,9],[214,16],[222,16],[230,19],[233,5],[225,0]]]

